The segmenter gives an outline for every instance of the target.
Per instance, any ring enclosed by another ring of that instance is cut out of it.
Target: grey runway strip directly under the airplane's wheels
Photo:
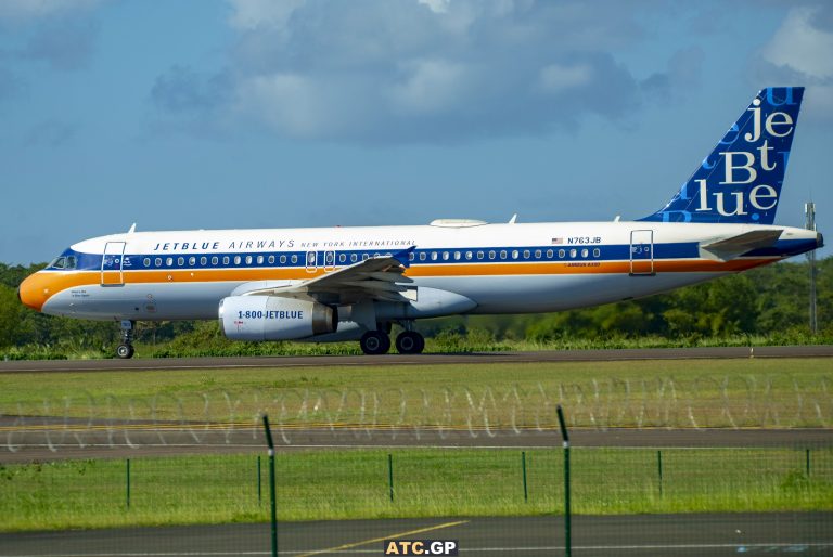
[[[275,355],[236,358],[164,358],[134,360],[24,360],[0,362],[0,373],[108,372],[120,370],[216,370],[368,365],[440,365],[480,363],[606,362],[740,358],[830,358],[833,346],[715,348],[635,348],[620,350],[546,350],[384,355]]]

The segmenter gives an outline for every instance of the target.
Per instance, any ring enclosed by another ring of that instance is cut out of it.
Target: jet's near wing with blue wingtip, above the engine
[[[371,257],[331,273],[291,285],[257,288],[244,296],[283,296],[315,299],[322,303],[354,303],[363,299],[407,302],[413,281],[405,276],[412,246],[389,256]]]

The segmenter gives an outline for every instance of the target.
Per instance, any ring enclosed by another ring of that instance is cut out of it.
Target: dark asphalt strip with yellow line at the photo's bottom
[[[574,516],[575,555],[831,555],[833,514]],[[268,523],[0,534],[0,557],[270,555]],[[383,555],[385,540],[454,540],[460,555],[564,555],[561,517],[279,522],[280,555]]]

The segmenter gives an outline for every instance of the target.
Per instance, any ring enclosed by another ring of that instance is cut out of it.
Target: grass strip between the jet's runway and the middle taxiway
[[[183,422],[831,427],[833,359],[8,374],[0,414]]]

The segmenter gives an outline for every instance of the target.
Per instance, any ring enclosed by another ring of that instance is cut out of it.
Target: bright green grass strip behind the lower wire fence
[[[394,450],[395,501],[386,450],[290,452],[277,457],[280,520],[435,516],[530,516],[563,508],[562,451]],[[573,449],[577,514],[833,510],[833,450]],[[0,466],[0,531],[252,522],[268,519],[255,455]]]

